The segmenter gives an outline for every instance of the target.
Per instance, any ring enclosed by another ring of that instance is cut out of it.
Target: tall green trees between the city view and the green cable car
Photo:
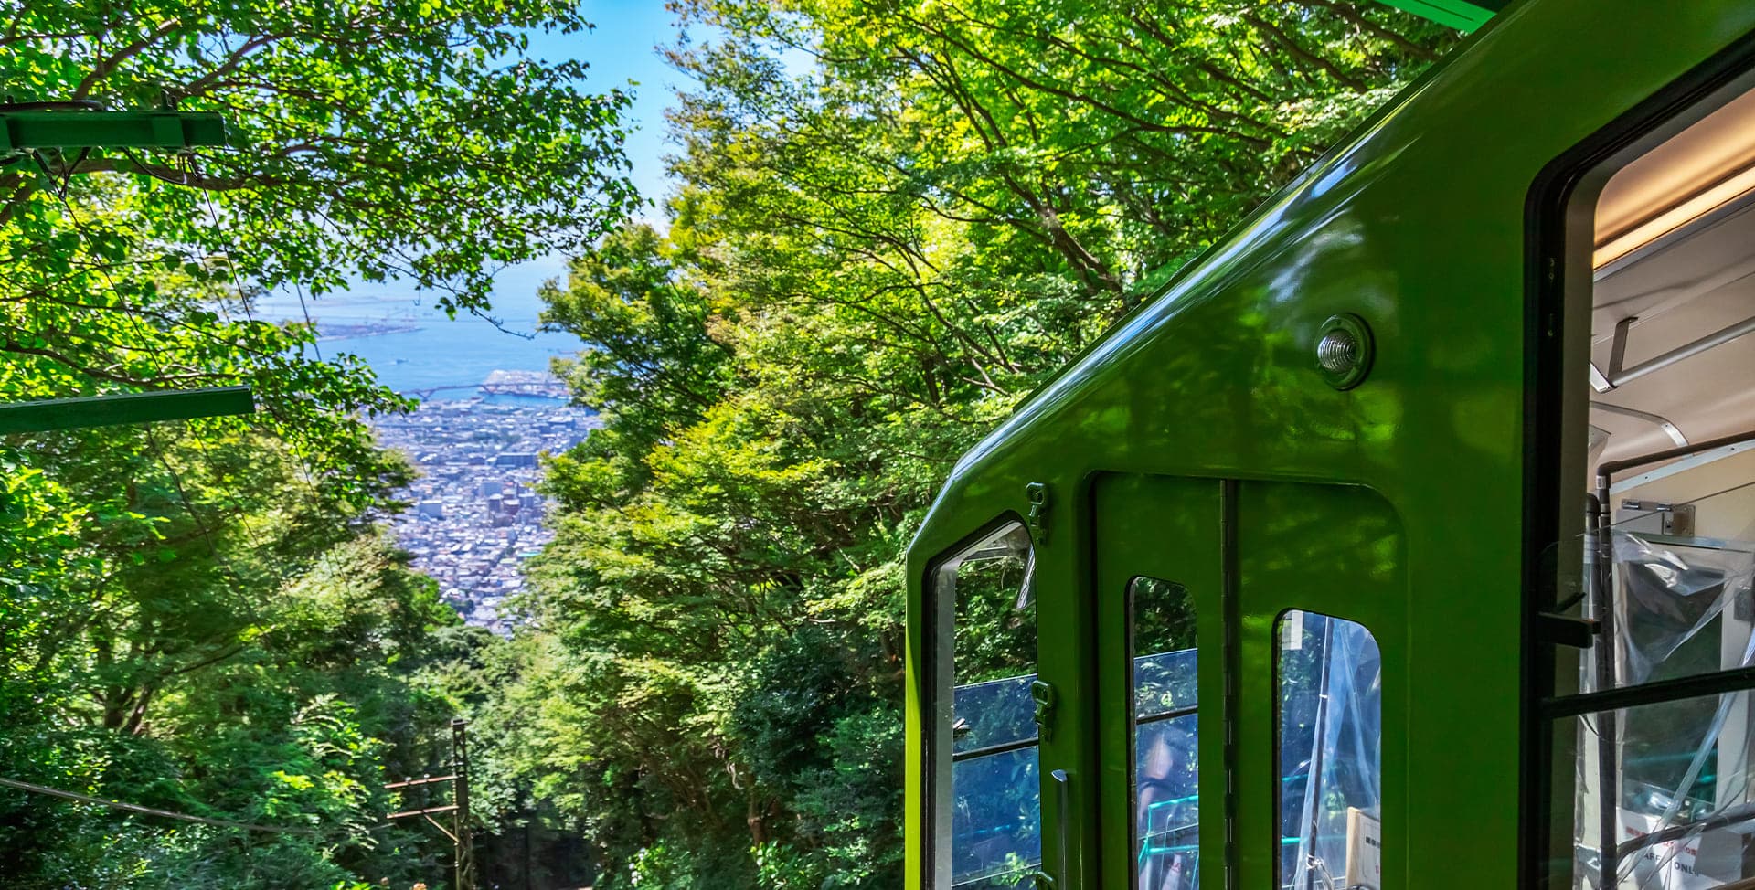
[[[670,228],[544,290],[605,427],[488,699],[602,886],[900,886],[900,553],[955,458],[1437,58],[1376,4],[684,0]],[[960,664],[1032,667],[1020,563]],[[1174,628],[1167,628],[1174,630]]]

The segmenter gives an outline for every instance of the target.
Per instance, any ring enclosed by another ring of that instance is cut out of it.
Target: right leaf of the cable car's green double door
[[[1232,490],[1237,886],[1416,886],[1400,520],[1364,486]]]

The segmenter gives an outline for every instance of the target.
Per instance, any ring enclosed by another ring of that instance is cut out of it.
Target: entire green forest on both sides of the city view
[[[0,156],[0,400],[258,411],[0,437],[0,778],[214,820],[0,788],[0,885],[449,886],[383,785],[463,716],[484,886],[900,886],[900,555],[935,486],[1458,37],[1348,0],[672,11],[695,86],[641,197],[627,93],[528,51],[590,54],[567,0],[7,9],[11,100],[233,139]],[[556,537],[502,639],[383,532],[412,470],[370,420],[414,406],[253,298],[490,312],[556,253],[544,325],[602,428],[546,458]]]

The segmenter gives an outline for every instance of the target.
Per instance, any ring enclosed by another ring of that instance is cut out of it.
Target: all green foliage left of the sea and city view
[[[0,441],[0,776],[314,834],[0,790],[0,885],[288,888],[442,874],[384,827],[442,762],[481,641],[377,537],[409,402],[265,293],[400,279],[486,312],[493,272],[637,205],[628,97],[530,32],[548,0],[9,7],[21,102],[218,111],[225,147],[0,156],[0,400],[246,383],[249,418]],[[68,111],[65,114],[88,114]]]

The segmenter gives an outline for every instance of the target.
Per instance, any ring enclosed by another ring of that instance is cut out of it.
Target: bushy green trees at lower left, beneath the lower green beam
[[[272,441],[167,437],[158,463],[140,430],[119,435],[137,451],[84,432],[35,455],[79,521],[58,541],[72,560],[39,576],[40,621],[5,639],[0,774],[309,834],[172,830],[9,790],[0,879],[272,888],[435,871],[418,836],[379,822],[383,774],[437,762],[449,718],[418,678],[428,635],[458,621],[437,586],[360,516],[332,525]],[[91,472],[116,462],[139,465]]]

